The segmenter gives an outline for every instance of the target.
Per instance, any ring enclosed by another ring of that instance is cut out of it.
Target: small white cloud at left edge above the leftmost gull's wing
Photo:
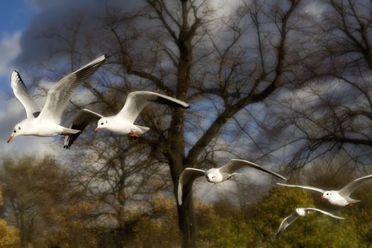
[[[0,40],[0,76],[9,76],[12,65],[11,62],[20,54],[21,32],[6,33]]]

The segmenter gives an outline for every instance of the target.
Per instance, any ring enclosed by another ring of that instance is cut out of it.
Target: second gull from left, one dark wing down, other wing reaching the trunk
[[[165,96],[152,91],[133,91],[128,94],[127,100],[118,114],[105,117],[84,108],[74,115],[69,128],[77,129],[82,132],[84,128],[86,128],[86,125],[92,121],[98,121],[96,129],[94,129],[95,132],[106,129],[117,135],[129,135],[129,137],[137,140],[140,135],[146,133],[150,128],[133,123],[138,115],[140,115],[142,109],[152,102],[172,107],[188,108],[188,103],[171,96]],[[71,147],[80,133],[64,137],[64,148]]]

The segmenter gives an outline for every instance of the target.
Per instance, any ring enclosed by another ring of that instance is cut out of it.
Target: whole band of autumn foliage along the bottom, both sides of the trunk
[[[175,247],[180,232],[172,197],[158,195],[137,208],[123,210],[123,226],[115,223],[103,200],[86,196],[63,167],[49,157],[4,160],[0,171],[6,221],[0,219],[0,247]],[[354,176],[351,176],[354,178]],[[332,183],[320,177],[320,182]],[[344,179],[344,181],[351,179]],[[314,182],[312,184],[315,184]],[[332,188],[332,187],[331,187]],[[335,207],[320,193],[274,186],[257,203],[234,205],[196,202],[198,247],[371,247],[371,184],[356,190],[353,206]],[[313,213],[299,218],[278,239],[276,230],[295,208],[317,207],[345,220]],[[17,227],[13,229],[8,223]]]

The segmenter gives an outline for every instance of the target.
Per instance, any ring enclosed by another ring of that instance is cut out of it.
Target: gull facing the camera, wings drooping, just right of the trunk
[[[254,169],[259,169],[260,171],[265,171],[274,176],[278,176],[281,179],[287,180],[284,176],[281,176],[280,174],[277,174],[274,171],[270,171],[269,169],[265,169],[264,167],[261,167],[258,164],[254,164],[252,162],[242,159],[231,159],[229,162],[227,162],[227,164],[224,164],[220,168],[211,168],[206,171],[203,171],[203,169],[186,168],[184,169],[184,171],[181,172],[181,175],[179,176],[178,188],[179,205],[182,205],[182,203],[188,196],[188,192],[191,191],[193,181],[198,177],[205,176],[205,179],[210,183],[218,184],[236,175],[235,171],[242,167],[252,167]]]

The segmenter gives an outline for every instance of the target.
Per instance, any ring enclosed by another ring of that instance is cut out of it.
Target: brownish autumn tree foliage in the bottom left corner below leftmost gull
[[[72,177],[55,160],[4,159],[0,179],[6,215],[19,229],[21,247],[94,247],[98,233],[92,234],[89,216],[99,203],[82,201],[81,190],[72,187]]]

